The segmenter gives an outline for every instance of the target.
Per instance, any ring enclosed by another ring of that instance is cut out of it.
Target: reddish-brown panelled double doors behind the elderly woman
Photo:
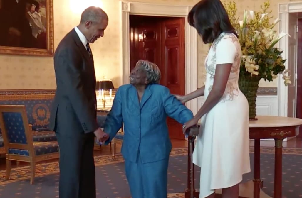
[[[131,15],[130,15],[131,16]],[[130,70],[139,59],[154,62],[160,84],[172,94],[185,94],[185,18],[130,17]],[[182,125],[167,119],[171,139],[184,139]]]

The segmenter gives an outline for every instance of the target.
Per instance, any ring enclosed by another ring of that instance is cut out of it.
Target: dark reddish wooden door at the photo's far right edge
[[[298,19],[297,25],[297,118],[302,118],[302,19]],[[302,126],[298,137],[302,137]]]

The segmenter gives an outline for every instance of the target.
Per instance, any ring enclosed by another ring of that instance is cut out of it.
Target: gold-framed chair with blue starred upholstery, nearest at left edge
[[[29,162],[31,180],[36,162],[59,158],[59,146],[54,142],[34,142],[24,105],[0,105],[0,125],[6,156],[6,179],[10,177],[11,160]]]

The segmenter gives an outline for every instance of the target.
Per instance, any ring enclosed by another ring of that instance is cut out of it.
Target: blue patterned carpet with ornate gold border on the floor
[[[253,147],[250,148],[253,165]],[[273,196],[274,148],[261,148],[261,178],[263,191]],[[116,159],[110,155],[95,157],[98,198],[127,198],[130,191],[124,173],[122,156]],[[199,168],[195,167],[196,187],[199,186]],[[29,184],[29,166],[14,168],[11,179],[5,180],[5,171],[0,171],[0,197],[5,198],[54,198],[58,195],[59,169],[57,162],[37,165],[36,179]],[[243,182],[253,178],[253,171],[244,175]],[[168,170],[169,197],[184,197],[187,180],[187,149],[173,149]],[[283,198],[302,197],[302,149],[283,149]]]

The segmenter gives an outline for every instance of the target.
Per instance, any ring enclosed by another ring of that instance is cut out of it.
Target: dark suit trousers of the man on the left
[[[57,127],[60,148],[59,198],[95,198],[95,136],[89,133],[70,137],[65,133]]]

